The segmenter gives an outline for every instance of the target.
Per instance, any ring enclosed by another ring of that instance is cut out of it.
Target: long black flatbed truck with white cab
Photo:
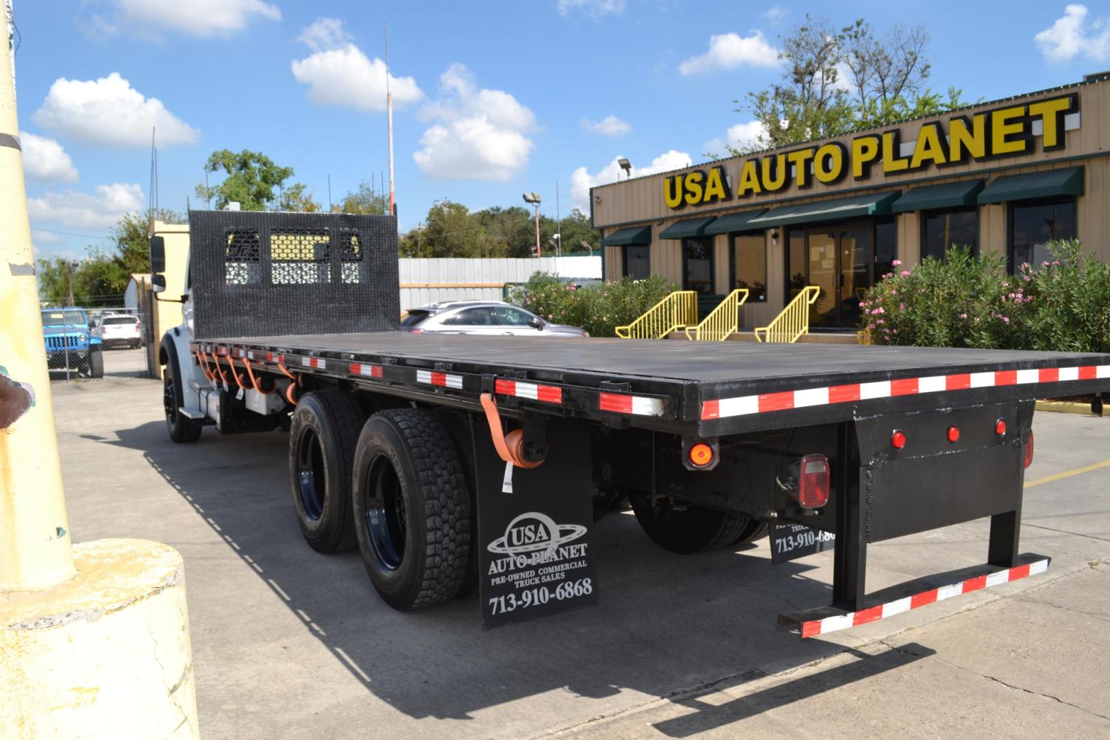
[[[674,553],[831,544],[831,602],[779,616],[803,637],[1036,575],[1035,398],[1110,391],[1107,354],[407,333],[390,216],[193,211],[190,233],[170,437],[287,432],[310,547],[357,546],[397,609],[477,591],[486,627],[596,604],[593,524],[624,501]],[[867,592],[868,545],[985,517],[980,568]]]

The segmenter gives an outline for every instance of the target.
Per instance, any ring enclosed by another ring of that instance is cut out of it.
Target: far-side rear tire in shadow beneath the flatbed
[[[659,499],[652,506],[644,496],[633,496],[636,520],[659,547],[679,555],[705,553],[758,539],[761,521],[694,504]]]

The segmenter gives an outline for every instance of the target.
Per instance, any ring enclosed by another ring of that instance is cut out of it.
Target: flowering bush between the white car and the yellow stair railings
[[[616,336],[614,327],[630,324],[677,290],[658,275],[576,287],[556,275],[537,272],[509,292],[509,301],[557,324],[581,326],[591,336]]]

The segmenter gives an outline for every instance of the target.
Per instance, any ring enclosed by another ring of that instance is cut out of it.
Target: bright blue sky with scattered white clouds
[[[386,170],[390,27],[401,229],[438,199],[588,212],[617,156],[645,174],[753,132],[734,100],[780,69],[807,12],[925,23],[931,83],[987,100],[1110,68],[1110,7],[1043,2],[14,0],[18,105],[39,256],[82,256],[150,196],[185,209],[218,149],[262,151],[316,200]],[[556,204],[556,183],[559,191]]]

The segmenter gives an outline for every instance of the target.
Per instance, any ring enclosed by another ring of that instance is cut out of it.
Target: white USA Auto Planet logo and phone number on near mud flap
[[[586,570],[586,534],[578,524],[556,524],[542,511],[516,516],[505,534],[490,543],[495,557],[486,577],[491,586],[512,586],[513,591],[490,599],[491,614],[504,614],[565,601],[593,594],[591,578],[575,579],[575,571]]]

